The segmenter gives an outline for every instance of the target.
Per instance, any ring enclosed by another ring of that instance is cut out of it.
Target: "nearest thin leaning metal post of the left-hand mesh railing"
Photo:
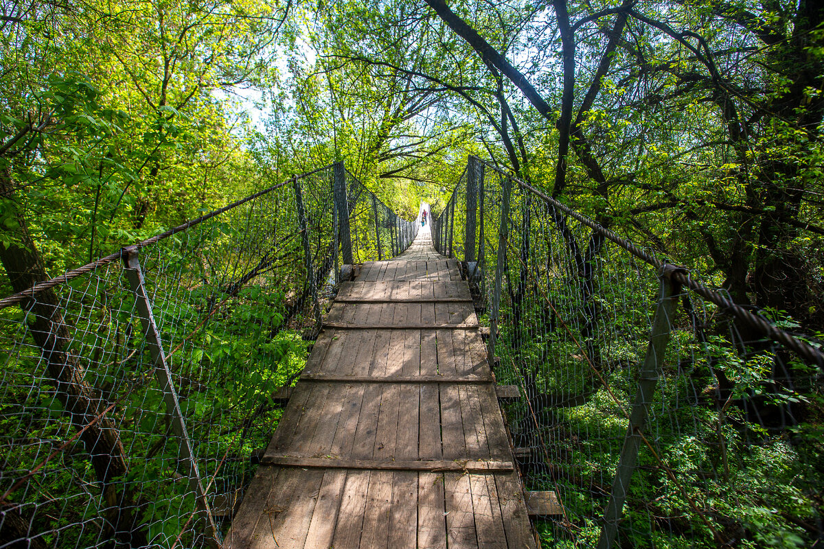
[[[194,458],[194,451],[192,450],[189,433],[186,430],[183,412],[180,410],[177,391],[171,380],[171,370],[169,370],[169,365],[166,363],[166,353],[163,351],[160,332],[157,330],[154,314],[152,314],[152,301],[149,300],[146,285],[143,281],[143,271],[138,260],[138,248],[137,246],[129,246],[129,248],[124,249],[124,252],[124,271],[134,294],[134,303],[140,317],[140,324],[143,326],[143,337],[146,338],[149,355],[152,357],[152,363],[154,364],[155,377],[163,391],[166,413],[171,416],[171,430],[180,440],[180,455],[185,461],[186,467],[189,468],[189,489],[194,491],[199,514],[197,522],[200,524],[195,527],[195,531],[203,532],[203,527],[205,527],[209,544],[213,547],[219,547],[218,527],[214,523],[212,510],[208,506],[208,498],[200,479],[198,463]]]

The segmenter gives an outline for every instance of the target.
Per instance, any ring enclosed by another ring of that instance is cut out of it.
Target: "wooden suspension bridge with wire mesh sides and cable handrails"
[[[337,163],[17,276],[0,547],[738,547],[753,455],[816,493],[809,337],[492,162],[438,209]]]

